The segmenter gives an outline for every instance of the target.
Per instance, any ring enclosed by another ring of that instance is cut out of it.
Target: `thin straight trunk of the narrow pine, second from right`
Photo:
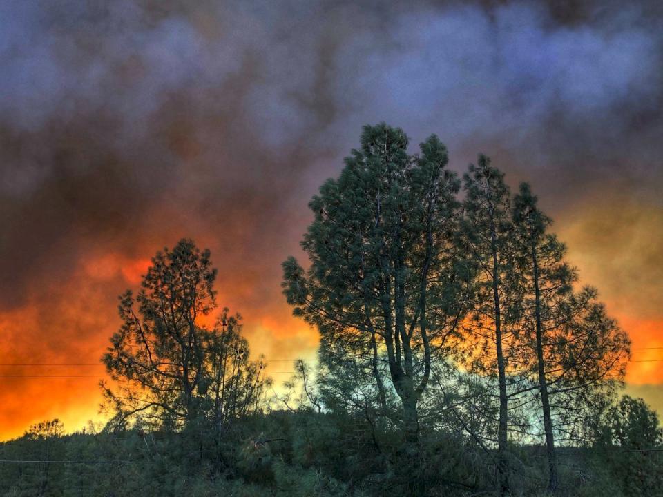
[[[492,218],[492,213],[491,213]],[[492,247],[492,297],[495,319],[495,349],[497,351],[497,375],[499,378],[499,426],[497,428],[497,469],[499,471],[500,495],[510,494],[509,460],[507,455],[508,402],[506,396],[506,366],[502,351],[501,309],[499,302],[499,267],[497,262],[497,235],[494,222],[490,222]]]

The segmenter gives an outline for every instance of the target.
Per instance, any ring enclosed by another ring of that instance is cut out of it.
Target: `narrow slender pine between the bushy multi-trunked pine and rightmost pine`
[[[497,469],[502,495],[510,491],[508,458],[509,359],[516,347],[513,326],[519,315],[519,283],[510,216],[510,193],[504,175],[479,155],[463,176],[465,201],[461,236],[476,266],[474,309],[470,333],[479,340],[472,367],[490,377],[497,371],[499,420]],[[490,360],[490,357],[494,360]]]

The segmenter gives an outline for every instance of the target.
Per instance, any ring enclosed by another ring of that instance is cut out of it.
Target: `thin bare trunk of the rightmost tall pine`
[[[534,279],[535,318],[537,335],[537,362],[539,369],[539,391],[544,411],[544,431],[546,432],[546,453],[548,454],[548,490],[557,491],[557,457],[555,454],[555,436],[553,434],[553,418],[550,416],[550,400],[548,399],[548,381],[544,364],[543,327],[541,325],[541,291],[539,290],[539,262],[537,251],[532,241],[532,269]]]

